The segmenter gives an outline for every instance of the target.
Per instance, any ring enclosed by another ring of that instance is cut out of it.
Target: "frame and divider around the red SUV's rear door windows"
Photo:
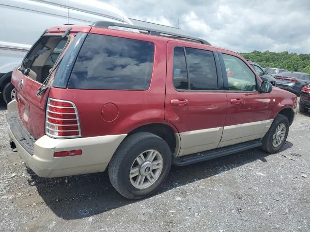
[[[173,78],[174,78],[174,49],[176,47],[182,47],[185,55],[185,62],[186,62],[186,71],[187,71],[187,81],[188,81],[188,89],[177,89],[173,84]],[[188,62],[187,62],[187,55],[186,55],[186,47],[191,49],[198,49],[203,51],[212,52],[213,58],[215,61],[215,68],[217,73],[217,90],[199,90],[199,89],[190,89],[190,78],[189,78],[189,72],[188,72]],[[224,85],[223,85],[223,76],[222,76],[222,70],[220,65],[220,60],[217,54],[217,51],[197,48],[197,47],[190,47],[185,45],[173,45],[172,48],[172,86],[175,91],[177,92],[225,92]]]

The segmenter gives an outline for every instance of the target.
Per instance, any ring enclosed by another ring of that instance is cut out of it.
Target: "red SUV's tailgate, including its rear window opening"
[[[38,96],[36,93],[67,44],[67,38],[62,38],[62,34],[63,32],[42,36],[25,57],[24,61],[28,59],[28,62],[23,61],[25,65],[16,68],[12,75],[12,83],[17,91],[19,116],[24,126],[36,139],[45,134],[48,89]],[[74,36],[70,36],[72,41]],[[27,69],[30,73],[24,74]]]

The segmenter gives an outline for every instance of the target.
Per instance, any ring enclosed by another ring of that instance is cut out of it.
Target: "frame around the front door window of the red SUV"
[[[240,59],[243,63],[245,63],[248,66],[250,71],[255,76],[255,84],[256,84],[256,90],[255,91],[229,90],[228,89],[229,88],[229,86],[228,86],[228,76],[227,76],[227,73],[226,73],[226,66],[225,66],[225,62],[224,62],[224,58],[222,57],[222,54],[238,58],[238,59]],[[243,59],[241,59],[241,58],[239,58],[239,57],[237,57],[235,55],[232,55],[232,54],[228,54],[228,53],[224,53],[224,52],[218,52],[218,56],[219,56],[219,60],[220,60],[221,68],[222,68],[222,73],[223,73],[225,92],[228,92],[228,93],[260,93],[259,89],[260,89],[260,86],[261,86],[262,83],[261,83],[260,79],[258,78],[259,75],[257,73],[254,73],[253,70],[249,67],[250,64],[247,64],[247,62],[245,62]]]

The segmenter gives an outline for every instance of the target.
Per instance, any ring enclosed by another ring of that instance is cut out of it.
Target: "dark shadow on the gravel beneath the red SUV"
[[[292,147],[286,142],[282,150]],[[255,160],[267,162],[269,154],[260,149],[229,155],[214,160],[191,164],[184,167],[171,167],[171,172],[163,186],[154,196],[170,189],[226,172]],[[110,184],[108,172],[69,176],[62,178],[42,178],[28,169],[38,193],[47,206],[63,219],[78,219],[97,215],[127,204],[143,201],[128,200],[121,196]]]

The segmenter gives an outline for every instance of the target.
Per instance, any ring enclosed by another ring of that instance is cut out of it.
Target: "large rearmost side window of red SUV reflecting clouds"
[[[78,54],[69,88],[146,90],[150,86],[154,43],[89,34]]]

